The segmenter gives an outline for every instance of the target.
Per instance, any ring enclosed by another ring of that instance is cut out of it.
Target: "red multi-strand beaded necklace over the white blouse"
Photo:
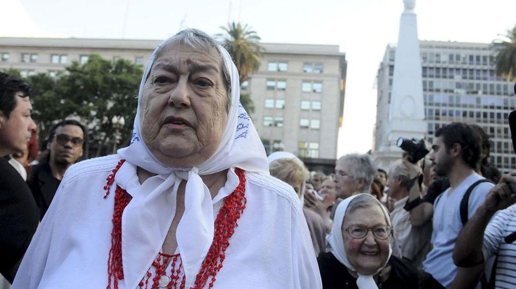
[[[106,195],[104,198],[109,196],[109,190],[111,185],[115,182],[115,175],[122,166],[125,160],[120,160],[118,162],[115,169],[113,169],[107,178],[106,185],[104,186],[104,190],[106,190]],[[235,168],[235,173],[238,176],[238,186],[233,191],[232,194],[225,197],[224,204],[222,208],[220,208],[217,218],[215,219],[215,234],[213,238],[212,246],[209,248],[204,261],[201,264],[201,269],[196,276],[195,285],[191,287],[191,289],[201,289],[203,288],[208,279],[209,282],[208,288],[213,287],[214,282],[216,281],[215,276],[218,271],[222,268],[222,263],[225,259],[225,251],[229,247],[229,239],[235,232],[235,227],[238,226],[237,220],[240,218],[241,213],[244,212],[246,208],[247,199],[245,197],[246,192],[246,177],[243,169]],[[120,188],[117,185],[115,190],[115,208],[113,212],[113,217],[111,222],[113,223],[113,229],[111,231],[111,248],[109,249],[109,257],[107,260],[107,275],[108,275],[108,283],[106,289],[111,288],[111,282],[114,285],[115,289],[118,289],[118,280],[124,278],[124,272],[122,268],[122,213],[128,203],[131,201],[131,195],[129,195],[125,190]],[[159,264],[161,257],[164,257],[163,264]],[[177,258],[180,258],[179,254],[175,255],[167,255],[160,253],[160,256],[155,261],[153,265],[156,267],[156,277],[153,280],[153,287],[156,283],[156,280],[159,276],[166,276],[165,273],[165,264],[167,263],[169,258],[172,259],[172,271],[171,271],[171,281],[168,283],[167,288],[179,288],[183,289],[185,287],[185,276],[181,280],[181,283],[178,284],[179,275],[181,273],[181,265],[180,268],[174,270],[175,262]],[[151,275],[149,271],[147,273],[147,278]],[[148,282],[148,279],[147,279]],[[147,285],[147,284],[146,284]],[[143,286],[142,282],[139,284],[140,287]]]

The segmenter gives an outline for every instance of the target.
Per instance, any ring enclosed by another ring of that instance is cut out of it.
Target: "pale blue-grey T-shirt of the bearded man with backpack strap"
[[[467,189],[480,179],[483,177],[476,173],[471,174],[451,194],[449,194],[450,188],[444,191],[433,205],[433,248],[423,262],[423,268],[445,287],[451,285],[457,274],[457,266],[451,254],[462,230],[460,202]],[[467,208],[468,219],[475,214],[493,186],[488,182],[480,183],[471,192]]]

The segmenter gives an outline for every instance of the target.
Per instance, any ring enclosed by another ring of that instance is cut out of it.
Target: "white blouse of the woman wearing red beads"
[[[119,156],[114,155],[83,161],[68,169],[25,254],[14,289],[106,287],[115,184],[106,199],[103,186],[118,161]],[[139,185],[135,178],[136,174],[132,186]],[[246,209],[229,239],[230,246],[214,288],[321,288],[312,241],[295,192],[265,174],[246,172],[246,179]],[[233,191],[237,184],[238,177],[230,169],[228,181],[219,194]],[[131,193],[131,186],[127,192]],[[214,208],[219,208],[221,201],[215,202]],[[173,213],[170,221],[172,217]],[[138,224],[125,226],[132,228],[131,231],[156,226],[168,231],[170,224],[156,224],[149,215]],[[120,289],[136,288],[161,248],[134,247],[131,235],[124,228],[123,225],[125,279],[119,280],[118,285]],[[140,237],[164,240],[165,235]],[[156,253],[142,257],[142,251]],[[142,274],[127,276],[128,272],[137,271]]]

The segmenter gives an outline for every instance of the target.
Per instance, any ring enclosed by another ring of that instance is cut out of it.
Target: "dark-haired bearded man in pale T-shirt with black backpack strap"
[[[481,138],[470,125],[451,123],[436,131],[429,159],[435,165],[436,174],[449,179],[450,187],[426,212],[433,215],[433,248],[423,268],[445,287],[450,286],[457,274],[451,255],[464,223],[461,201],[473,187],[467,199],[467,219],[470,219],[493,187],[489,182],[477,183],[484,179],[475,172],[480,156]]]

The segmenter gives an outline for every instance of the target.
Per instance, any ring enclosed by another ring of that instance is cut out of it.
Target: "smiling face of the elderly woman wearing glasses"
[[[349,263],[358,273],[373,275],[389,258],[390,237],[380,240],[369,230],[361,239],[354,239],[344,230],[351,225],[362,225],[367,228],[386,226],[385,215],[380,206],[357,208],[352,213],[346,213],[342,223],[344,249]]]

